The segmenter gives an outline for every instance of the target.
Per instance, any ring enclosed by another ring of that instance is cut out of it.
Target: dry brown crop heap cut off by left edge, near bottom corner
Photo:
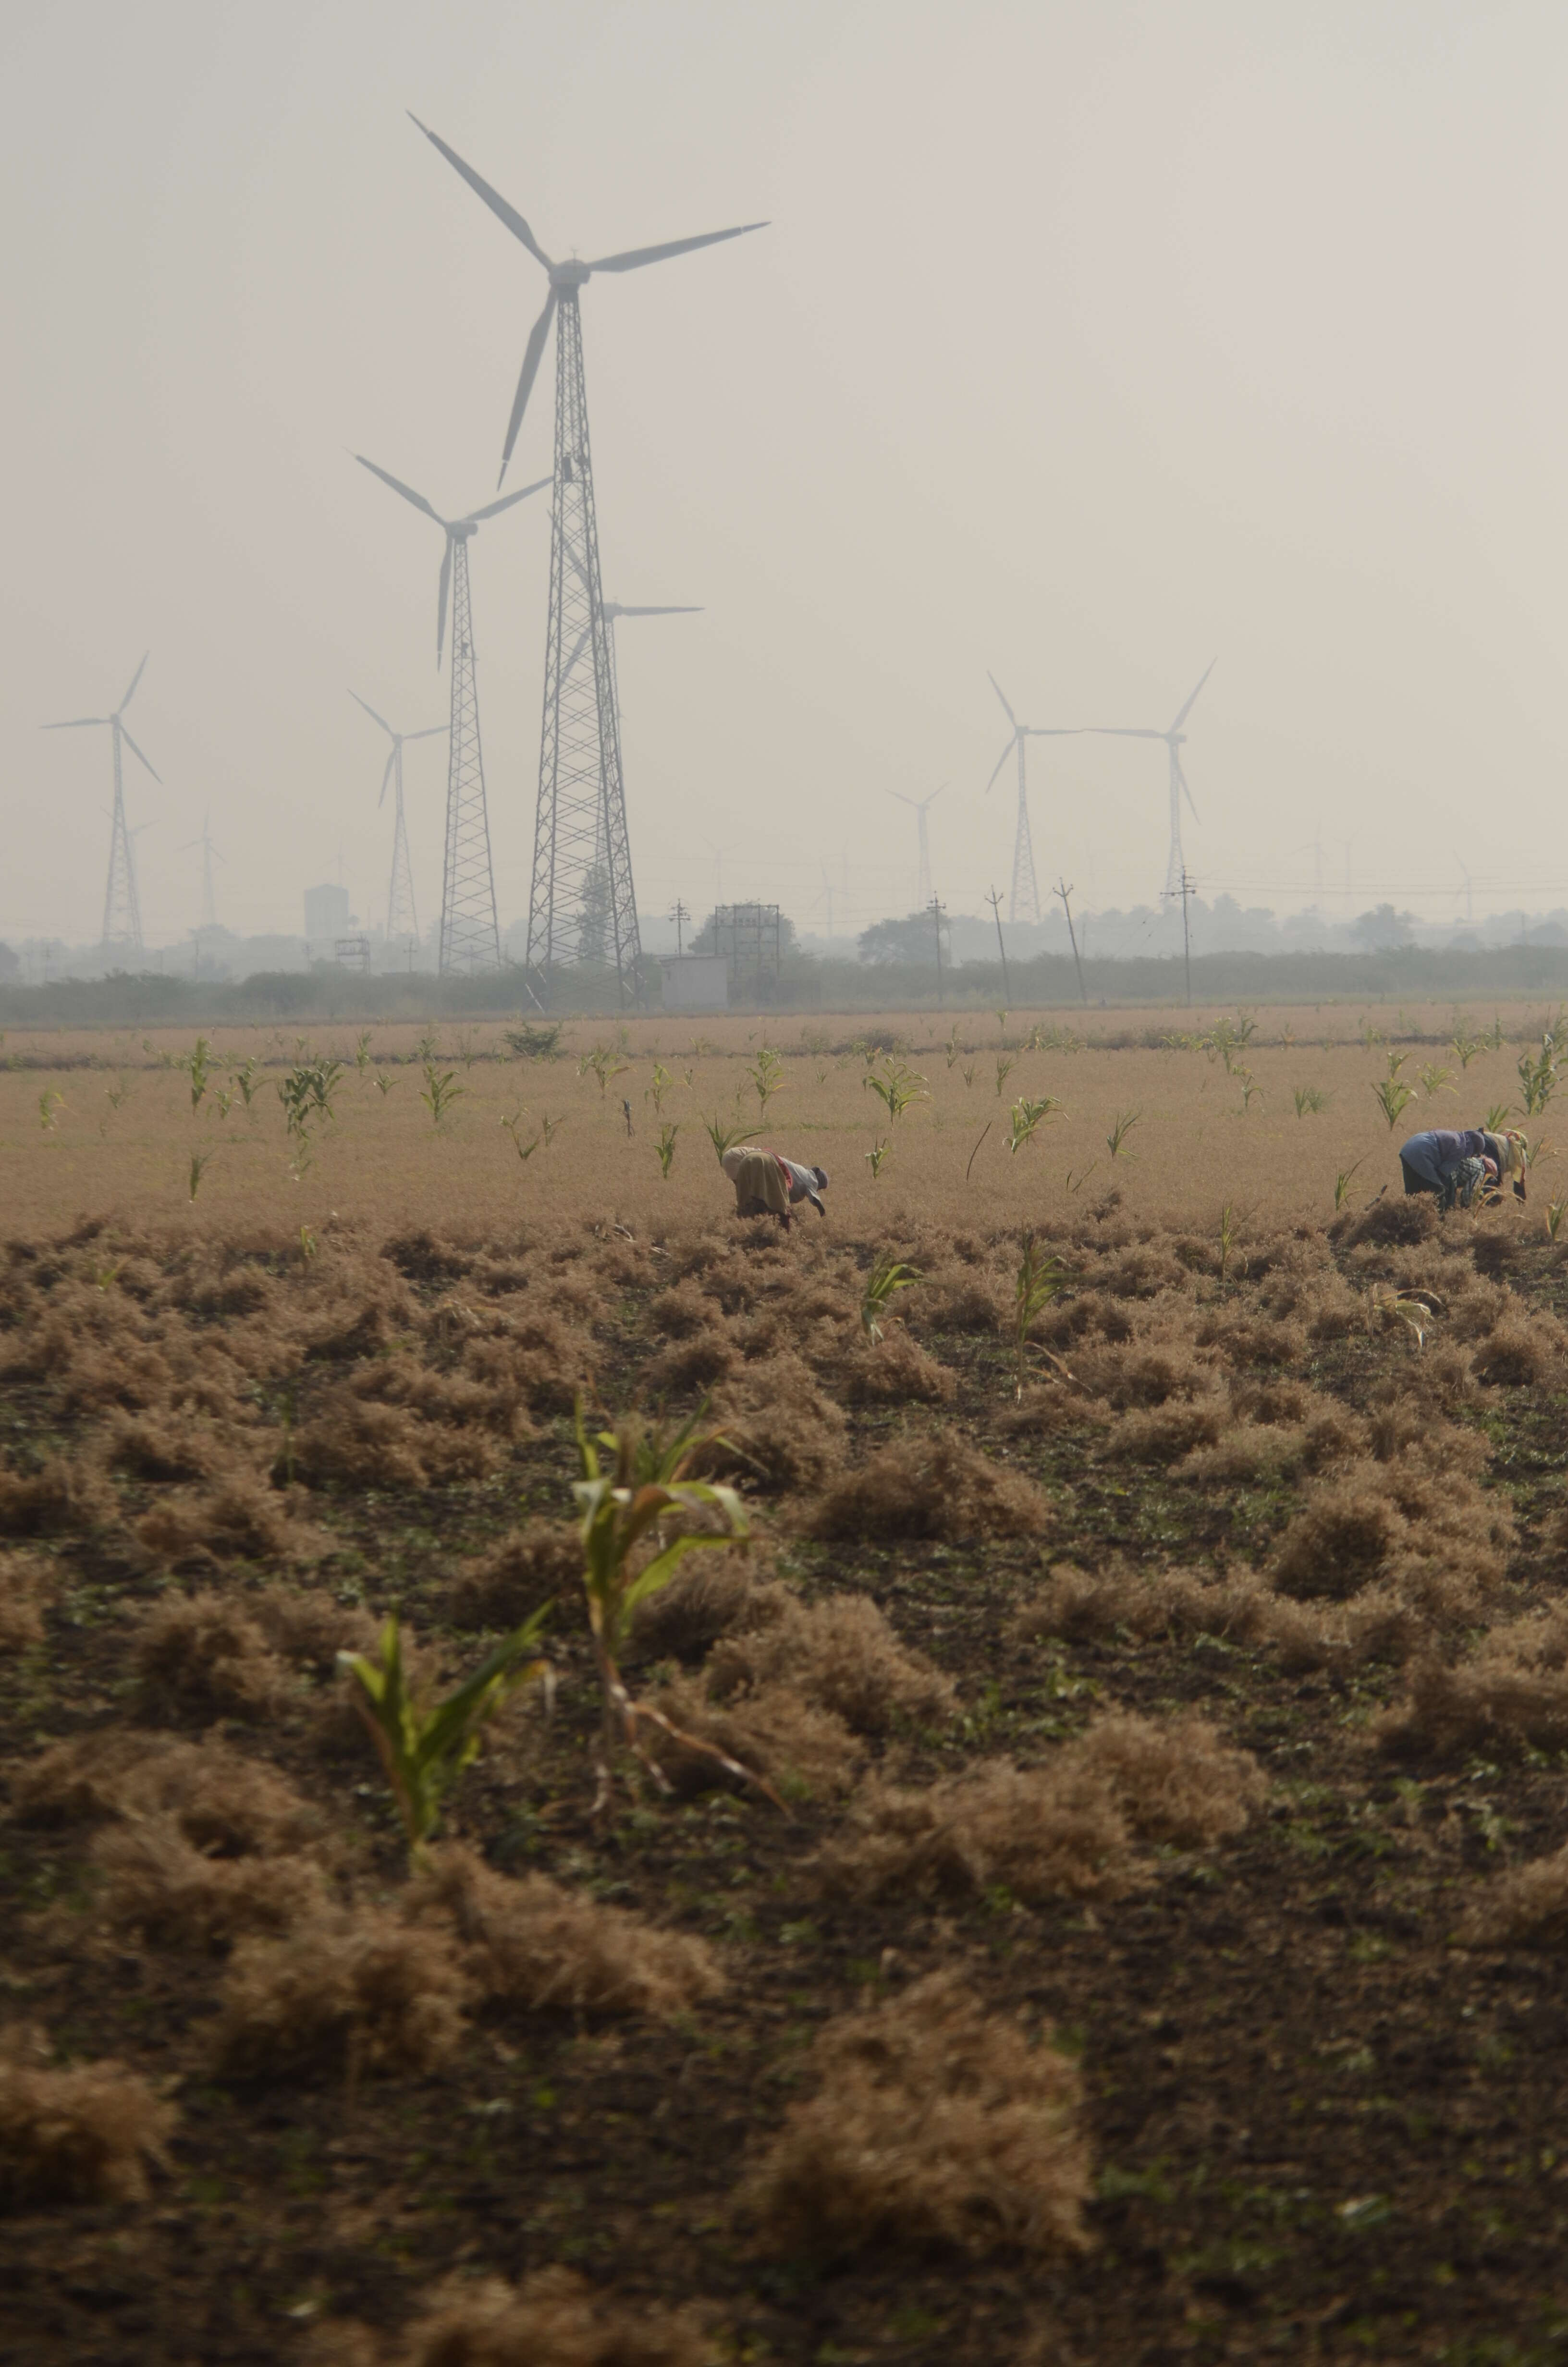
[[[0,2204],[142,2201],[147,2163],[175,2126],[144,2078],[116,2062],[57,2071],[38,2031],[0,2033]]]

